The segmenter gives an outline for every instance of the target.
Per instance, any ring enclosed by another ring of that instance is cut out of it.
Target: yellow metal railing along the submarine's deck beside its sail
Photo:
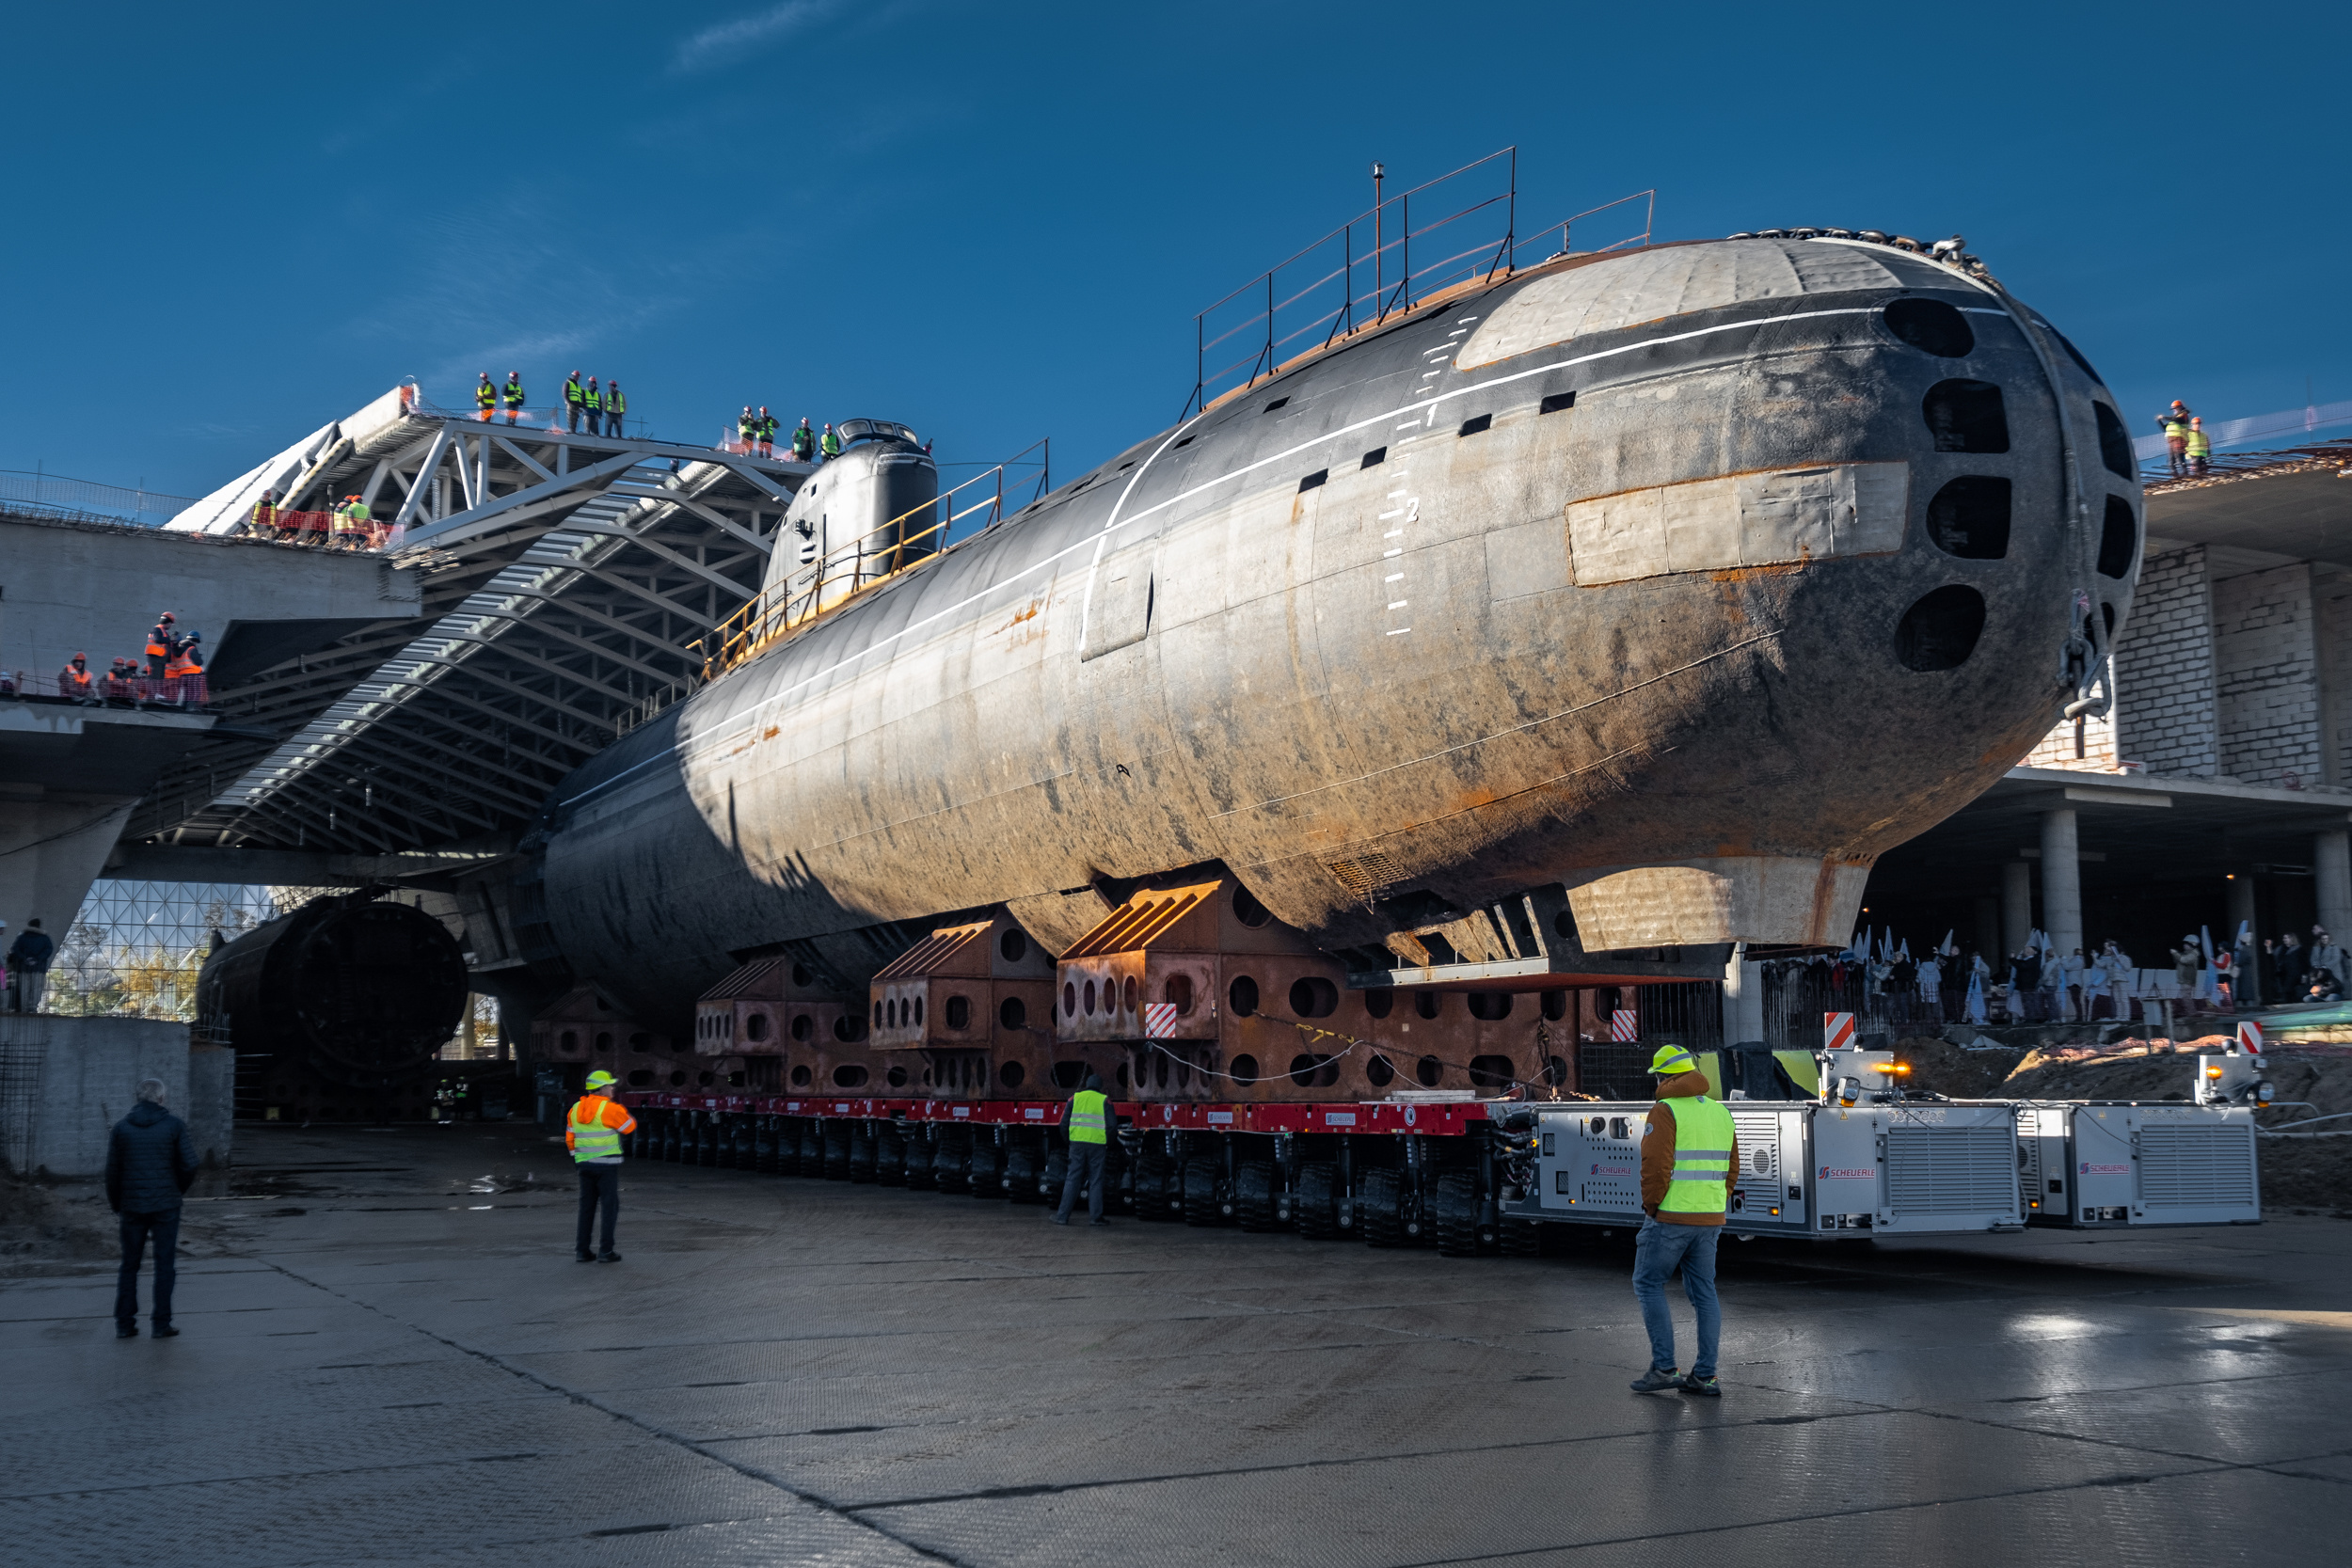
[[[1037,473],[1025,473],[1030,454]],[[894,578],[908,567],[938,555],[955,524],[985,515],[981,527],[995,527],[1016,510],[1047,496],[1051,461],[1044,440],[1030,442],[1002,463],[993,463],[962,484],[941,491],[936,501],[908,508],[877,529],[828,550],[816,562],[793,571],[781,588],[764,590],[727,616],[710,637],[691,644],[703,656],[703,679],[757,658],[764,649],[837,611],[868,588]],[[1011,491],[1011,494],[1007,494]],[[1023,494],[1025,491],[1025,494]]]

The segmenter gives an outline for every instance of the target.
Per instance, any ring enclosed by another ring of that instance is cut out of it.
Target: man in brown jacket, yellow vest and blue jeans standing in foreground
[[[1649,1371],[1637,1394],[1682,1389],[1719,1396],[1715,1347],[1724,1312],[1715,1302],[1715,1244],[1724,1234],[1740,1140],[1731,1112],[1708,1098],[1708,1074],[1682,1046],[1658,1046],[1649,1058],[1658,1079],[1658,1103],[1649,1107],[1642,1135],[1642,1234],[1632,1244],[1632,1295],[1649,1328]],[[1665,1281],[1682,1265],[1682,1293],[1698,1319],[1698,1354],[1689,1378],[1675,1373],[1675,1314],[1665,1305]]]

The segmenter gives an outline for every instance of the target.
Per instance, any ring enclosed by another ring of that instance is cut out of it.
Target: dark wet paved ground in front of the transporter
[[[115,1340],[108,1265],[0,1281],[7,1561],[2352,1556],[2343,1220],[1726,1241],[1698,1401],[1625,1387],[1623,1239],[1061,1229],[633,1164],[626,1258],[581,1265],[536,1128],[240,1140],[188,1206],[181,1338]]]

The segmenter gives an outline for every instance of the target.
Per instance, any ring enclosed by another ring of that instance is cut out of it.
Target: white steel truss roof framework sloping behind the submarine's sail
[[[807,463],[405,411],[280,498],[369,498],[421,621],[214,691],[223,724],[125,837],[397,853],[510,842],[548,790],[684,696],[760,590]]]

